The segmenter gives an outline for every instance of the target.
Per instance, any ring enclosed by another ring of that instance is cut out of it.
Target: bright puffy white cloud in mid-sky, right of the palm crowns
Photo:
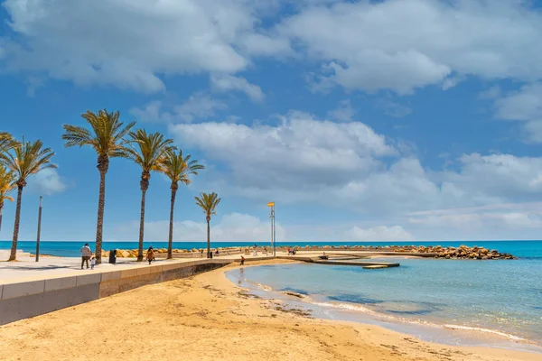
[[[226,162],[235,184],[246,191],[342,183],[379,167],[375,155],[395,153],[367,125],[317,121],[295,112],[277,126],[201,123],[169,130],[179,143],[203,147],[210,158]]]

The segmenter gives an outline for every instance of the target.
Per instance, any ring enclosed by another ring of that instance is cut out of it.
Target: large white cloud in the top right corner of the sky
[[[542,14],[529,2],[340,2],[304,8],[277,32],[345,88],[409,94],[462,76],[542,79]]]

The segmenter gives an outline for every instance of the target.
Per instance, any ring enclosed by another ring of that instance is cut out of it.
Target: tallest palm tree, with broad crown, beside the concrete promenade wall
[[[65,147],[89,145],[98,153],[99,197],[98,222],[96,226],[96,263],[101,264],[101,249],[104,229],[104,208],[106,205],[106,174],[109,169],[109,158],[127,157],[125,136],[135,125],[131,122],[125,127],[119,120],[120,113],[108,113],[106,109],[95,114],[89,110],[81,115],[91,130],[76,125],[63,125],[66,133],[62,139]]]

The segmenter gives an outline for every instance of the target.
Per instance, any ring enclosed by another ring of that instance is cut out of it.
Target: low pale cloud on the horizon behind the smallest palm
[[[263,243],[270,239],[268,220],[232,213],[225,215],[219,223],[211,220],[211,242],[252,242]],[[139,232],[139,221],[118,225],[111,232],[116,240],[133,240]],[[169,221],[145,222],[145,239],[150,241],[167,240]],[[285,229],[276,224],[276,241],[285,240]],[[177,221],[173,225],[174,242],[207,242],[207,223],[193,221]]]

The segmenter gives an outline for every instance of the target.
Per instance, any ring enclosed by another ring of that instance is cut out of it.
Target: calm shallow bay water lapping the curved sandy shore
[[[397,259],[400,267],[383,270],[265,265],[231,271],[228,277],[259,296],[323,318],[374,323],[435,342],[542,352],[542,242],[477,244],[521,258]]]

